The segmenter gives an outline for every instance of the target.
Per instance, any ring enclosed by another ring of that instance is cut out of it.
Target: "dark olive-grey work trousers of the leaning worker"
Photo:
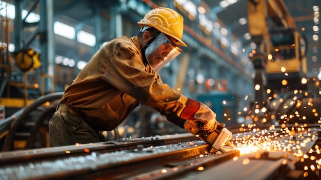
[[[105,138],[83,119],[66,112],[56,111],[49,121],[51,147],[103,142]]]

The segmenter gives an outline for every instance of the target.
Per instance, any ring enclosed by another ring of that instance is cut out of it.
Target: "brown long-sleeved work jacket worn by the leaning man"
[[[142,59],[137,36],[113,39],[92,56],[66,89],[61,103],[85,113],[97,131],[115,129],[139,102],[161,114],[180,116],[187,97],[163,84]]]

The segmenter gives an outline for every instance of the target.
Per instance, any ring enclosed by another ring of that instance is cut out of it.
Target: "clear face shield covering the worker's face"
[[[160,33],[146,48],[145,55],[149,66],[158,71],[182,52],[182,49]]]

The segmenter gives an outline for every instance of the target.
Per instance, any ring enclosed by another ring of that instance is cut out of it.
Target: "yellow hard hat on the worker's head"
[[[170,8],[155,8],[149,11],[137,24],[140,27],[153,27],[164,34],[174,37],[177,40],[175,44],[187,47],[182,41],[183,20],[184,18],[180,14]]]

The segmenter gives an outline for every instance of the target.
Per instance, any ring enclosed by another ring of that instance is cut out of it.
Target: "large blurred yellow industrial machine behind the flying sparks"
[[[283,1],[248,0],[249,30],[257,49],[250,53],[255,69],[255,102],[250,113],[257,124],[317,123],[319,83],[307,77],[307,41]]]

